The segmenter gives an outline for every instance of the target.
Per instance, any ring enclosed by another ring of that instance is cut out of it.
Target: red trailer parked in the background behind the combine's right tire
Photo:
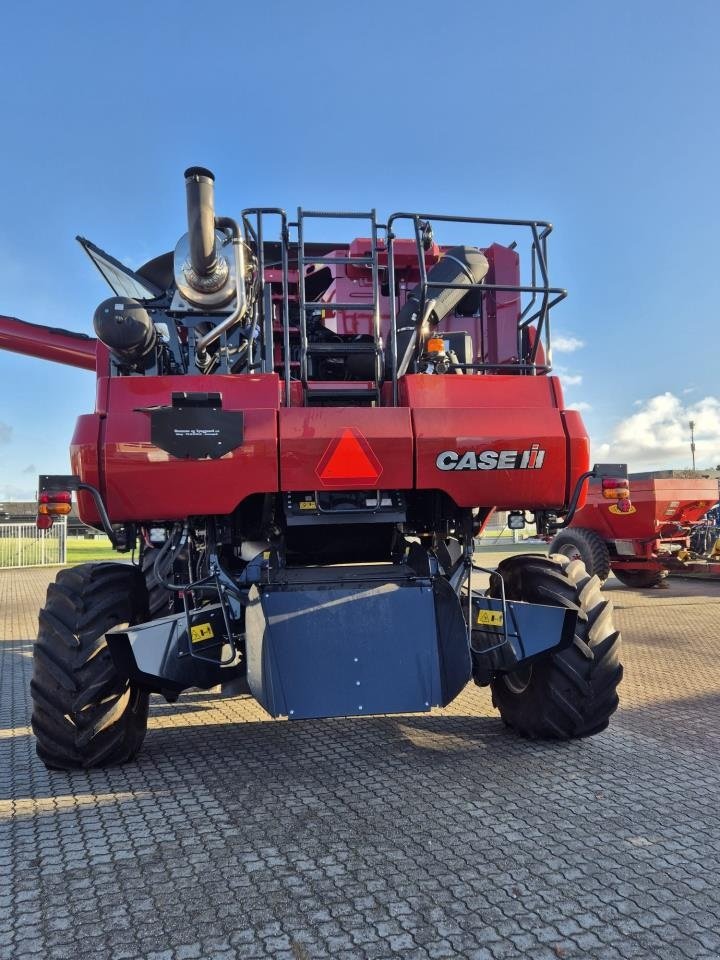
[[[579,557],[605,580],[610,571],[630,587],[654,587],[668,574],[720,579],[720,540],[704,554],[693,533],[718,503],[718,479],[696,471],[662,470],[630,476],[630,500],[608,501],[591,480],[587,501],[550,553]]]

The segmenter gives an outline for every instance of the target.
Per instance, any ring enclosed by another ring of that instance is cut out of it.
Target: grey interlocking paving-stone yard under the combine
[[[0,960],[720,956],[720,583],[610,581],[626,679],[587,741],[517,739],[474,687],[297,723],[191,693],[68,775],[29,728],[52,576],[0,572]]]

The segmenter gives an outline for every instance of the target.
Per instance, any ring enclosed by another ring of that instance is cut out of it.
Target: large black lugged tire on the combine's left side
[[[113,766],[140,750],[148,694],[118,676],[105,633],[145,619],[144,580],[130,564],[84,563],[48,587],[30,689],[37,753],[50,769]]]

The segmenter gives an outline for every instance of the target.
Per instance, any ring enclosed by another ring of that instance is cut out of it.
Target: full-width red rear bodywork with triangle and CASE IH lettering
[[[242,445],[218,460],[154,446],[143,410],[170,405],[178,389],[218,391],[224,410],[243,411]],[[413,374],[400,381],[398,407],[281,408],[279,395],[275,374],[102,377],[99,412],[78,421],[73,470],[121,522],[227,514],[253,493],[323,489],[442,490],[461,507],[559,509],[588,469],[582,420],[562,410],[554,377]],[[86,496],[80,510],[97,522]]]

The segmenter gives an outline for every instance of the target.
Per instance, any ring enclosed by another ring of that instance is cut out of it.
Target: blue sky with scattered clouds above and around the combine
[[[720,463],[720,4],[50,4],[0,36],[0,313],[91,331],[81,233],[141,263],[221,212],[555,224],[555,362],[598,456]],[[569,342],[567,342],[569,341]],[[562,343],[562,341],[561,341]],[[65,472],[92,374],[0,353],[0,499]]]

